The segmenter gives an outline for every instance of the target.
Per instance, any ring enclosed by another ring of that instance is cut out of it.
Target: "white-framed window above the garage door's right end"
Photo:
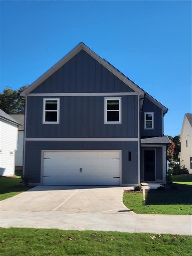
[[[121,124],[121,97],[105,98],[105,124]]]

